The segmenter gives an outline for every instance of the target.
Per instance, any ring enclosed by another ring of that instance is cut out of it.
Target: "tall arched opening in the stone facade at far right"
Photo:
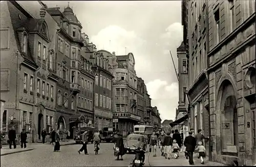
[[[237,98],[229,80],[222,82],[220,90],[221,150],[233,155],[239,151]]]

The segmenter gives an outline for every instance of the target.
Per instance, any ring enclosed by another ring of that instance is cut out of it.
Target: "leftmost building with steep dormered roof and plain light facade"
[[[25,9],[20,3],[1,2],[1,98],[7,122],[36,142],[42,128],[55,127],[57,24],[43,4]]]

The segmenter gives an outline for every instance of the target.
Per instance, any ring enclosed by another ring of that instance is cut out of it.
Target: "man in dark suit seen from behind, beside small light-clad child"
[[[196,138],[192,136],[192,131],[188,132],[188,136],[186,136],[185,140],[184,140],[184,146],[186,147],[186,152],[188,155],[188,159],[189,159],[189,164],[190,165],[194,165],[194,161],[193,161],[193,152],[195,152],[195,148],[197,145],[196,142]]]

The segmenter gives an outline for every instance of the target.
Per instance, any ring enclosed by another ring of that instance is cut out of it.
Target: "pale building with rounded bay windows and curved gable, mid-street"
[[[133,53],[109,57],[113,81],[113,127],[126,135],[133,131],[141,117],[137,111],[137,76]]]

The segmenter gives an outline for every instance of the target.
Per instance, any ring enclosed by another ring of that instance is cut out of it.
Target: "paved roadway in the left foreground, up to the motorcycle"
[[[123,161],[116,161],[112,143],[101,143],[99,154],[95,155],[92,144],[88,145],[89,155],[80,155],[81,145],[61,146],[60,152],[53,152],[53,146],[42,145],[33,151],[1,156],[2,167],[30,167],[30,166],[128,166],[134,157],[125,154]]]

